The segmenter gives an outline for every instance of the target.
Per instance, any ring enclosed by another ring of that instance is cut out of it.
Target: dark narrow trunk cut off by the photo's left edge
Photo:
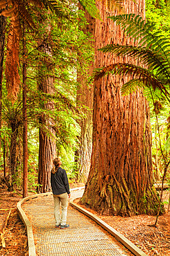
[[[0,129],[1,129],[1,112],[2,112],[2,79],[3,79],[3,55],[5,44],[5,28],[6,18],[3,15],[0,16]],[[0,130],[0,153],[1,153],[1,130]]]

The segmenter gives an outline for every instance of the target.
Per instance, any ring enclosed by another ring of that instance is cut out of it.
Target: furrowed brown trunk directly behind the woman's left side
[[[54,77],[52,77],[52,48],[50,44],[45,41],[40,46],[41,51],[48,57],[44,57],[42,61],[46,67],[47,75],[42,74],[41,67],[39,69],[40,80],[39,80],[39,91],[43,97],[43,94],[48,93],[54,94]],[[41,99],[43,100],[43,98]],[[52,100],[41,104],[42,109],[50,111],[54,110],[54,103]],[[56,140],[50,136],[50,133],[55,137],[54,120],[45,116],[45,113],[41,114],[39,118],[40,129],[39,129],[39,192],[50,191],[50,174],[53,166],[53,159],[56,157]],[[50,131],[47,132],[47,129]]]

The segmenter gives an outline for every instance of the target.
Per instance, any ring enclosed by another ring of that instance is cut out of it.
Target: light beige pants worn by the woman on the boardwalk
[[[61,224],[64,226],[67,220],[67,199],[68,194],[53,194],[54,197],[54,217],[56,226]],[[60,203],[61,203],[61,217],[60,217]]]

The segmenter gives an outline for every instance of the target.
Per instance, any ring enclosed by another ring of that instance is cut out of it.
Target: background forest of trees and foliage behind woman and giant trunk
[[[61,156],[70,182],[87,181],[94,102],[93,86],[87,84],[94,70],[92,20],[101,18],[93,1],[15,4],[13,10],[10,1],[7,6],[0,3],[0,161],[8,191],[23,188],[26,196],[28,191],[50,190],[56,156]],[[146,1],[147,21],[167,41],[168,13],[167,1]],[[159,90],[152,95],[146,89],[145,95],[151,113],[153,179],[161,183],[170,160],[169,102]]]

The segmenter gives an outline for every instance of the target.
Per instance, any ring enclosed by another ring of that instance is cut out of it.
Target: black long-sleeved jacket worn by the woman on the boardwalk
[[[65,192],[70,194],[67,174],[61,167],[55,174],[51,172],[51,185],[53,194],[64,194]]]

